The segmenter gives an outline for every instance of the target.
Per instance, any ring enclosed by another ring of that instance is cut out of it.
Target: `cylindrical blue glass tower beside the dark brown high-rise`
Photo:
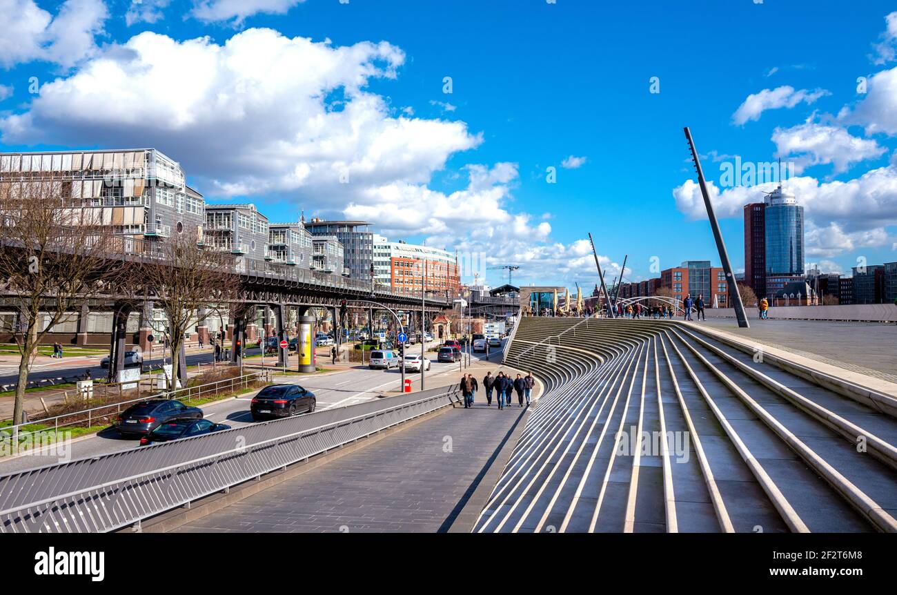
[[[804,207],[782,187],[766,197],[766,274],[804,274]]]

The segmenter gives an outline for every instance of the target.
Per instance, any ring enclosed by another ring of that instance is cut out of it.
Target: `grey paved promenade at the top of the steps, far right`
[[[738,328],[734,319],[707,319],[712,328],[750,337],[854,372],[897,382],[897,325],[828,320],[751,320]],[[705,324],[701,320],[700,324]]]

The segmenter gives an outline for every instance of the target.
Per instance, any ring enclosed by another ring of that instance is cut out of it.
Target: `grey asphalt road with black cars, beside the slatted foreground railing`
[[[504,345],[502,344],[503,347]],[[498,350],[493,349],[491,353],[492,361],[500,361]],[[473,354],[472,356],[479,360],[484,357],[484,354]],[[451,372],[460,374],[458,363],[439,363],[433,358],[431,360],[431,370],[426,375],[429,377]],[[415,389],[417,389],[416,385],[419,382],[420,373],[409,373],[407,377],[414,380]],[[362,368],[361,364],[357,368],[345,372],[330,372],[315,376],[274,377],[275,383],[300,383],[303,388],[314,392],[318,402],[318,409],[348,407],[379,398],[379,395],[385,392],[398,390],[401,386],[401,381],[401,372],[397,368],[389,371],[370,370],[366,367]],[[202,407],[205,417],[219,424],[231,425],[231,427],[252,424],[252,417],[249,414],[249,402],[254,395],[255,392],[252,392],[239,398],[209,403]],[[111,452],[126,451],[136,448],[137,445],[137,440],[122,438],[118,435],[118,432],[109,428],[89,438],[74,439],[74,441],[69,443],[69,451],[67,453],[40,454],[40,451],[37,451],[35,454],[0,458],[0,475],[28,468],[57,464],[60,462],[59,455],[65,456],[66,459],[84,459]]]

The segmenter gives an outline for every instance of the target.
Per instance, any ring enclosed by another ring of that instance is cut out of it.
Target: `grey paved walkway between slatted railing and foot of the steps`
[[[446,531],[525,411],[451,409],[178,531]]]

